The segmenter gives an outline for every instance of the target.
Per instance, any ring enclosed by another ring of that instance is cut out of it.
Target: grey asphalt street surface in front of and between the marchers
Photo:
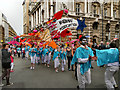
[[[61,67],[56,73],[51,61],[51,67],[47,68],[45,65],[36,65],[35,70],[30,70],[30,60],[15,57],[14,72],[11,73],[10,82],[12,86],[4,86],[3,88],[76,88],[77,81],[74,77],[73,71],[62,72]],[[101,88],[106,90],[104,82],[105,68],[97,67],[96,62],[92,62],[94,69],[91,69],[92,83],[87,88]],[[120,86],[120,74],[115,74],[115,79]],[[5,83],[5,81],[3,81]]]

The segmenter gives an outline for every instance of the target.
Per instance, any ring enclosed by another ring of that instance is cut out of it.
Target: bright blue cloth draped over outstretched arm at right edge
[[[116,49],[106,49],[106,50],[96,50],[97,66],[102,66],[109,63],[119,62],[119,50]]]

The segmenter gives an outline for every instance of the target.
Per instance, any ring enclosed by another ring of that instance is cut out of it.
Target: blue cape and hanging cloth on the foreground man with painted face
[[[88,50],[84,49],[82,47],[77,48],[75,53],[74,53],[71,65],[75,64],[75,62],[78,62],[78,58],[82,58],[82,59],[89,58],[89,55],[92,57],[94,56],[91,48],[88,47]],[[83,75],[85,72],[88,71],[89,68],[91,68],[91,61],[80,64],[81,74]]]

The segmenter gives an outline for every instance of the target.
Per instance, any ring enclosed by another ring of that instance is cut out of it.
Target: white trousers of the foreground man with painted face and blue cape
[[[77,77],[78,77],[78,85],[80,89],[85,89],[85,84],[91,84],[91,71],[90,69],[84,73],[84,75],[80,72],[80,64],[77,64]]]

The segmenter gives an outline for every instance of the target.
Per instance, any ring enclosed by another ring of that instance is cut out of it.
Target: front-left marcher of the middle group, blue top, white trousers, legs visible
[[[30,69],[34,70],[35,69],[35,54],[36,54],[36,51],[35,51],[35,48],[34,48],[34,44],[32,45],[32,47],[30,48],[30,57],[31,57],[31,67]]]

